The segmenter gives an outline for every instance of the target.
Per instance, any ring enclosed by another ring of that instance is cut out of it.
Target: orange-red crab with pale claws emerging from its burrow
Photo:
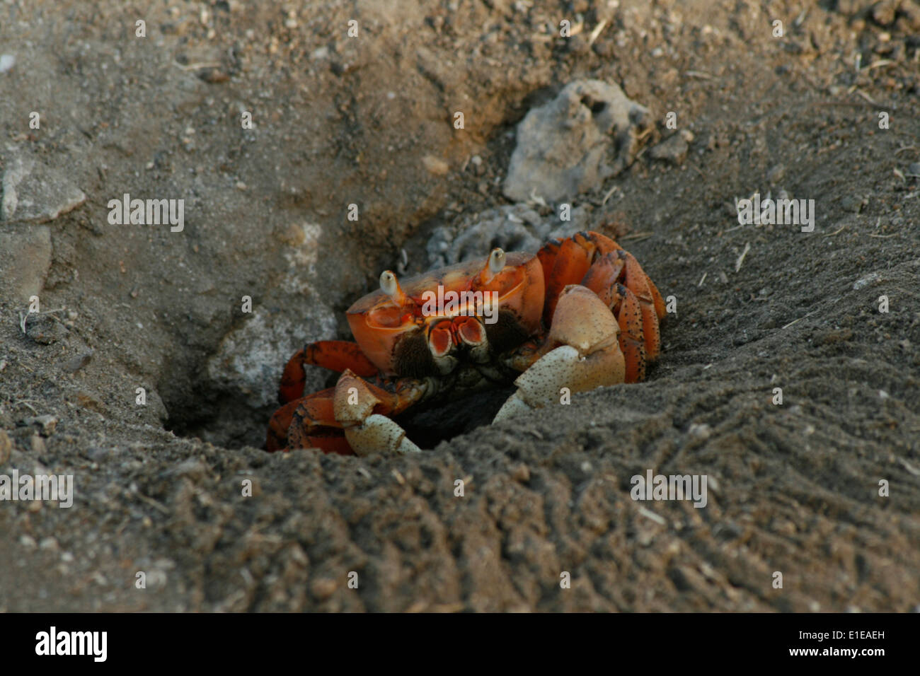
[[[310,343],[285,366],[266,450],[416,453],[393,417],[422,402],[513,383],[499,421],[565,388],[636,383],[659,355],[665,307],[632,254],[581,232],[401,284],[386,270],[346,315],[355,342]],[[339,372],[335,387],[304,395],[307,365]]]

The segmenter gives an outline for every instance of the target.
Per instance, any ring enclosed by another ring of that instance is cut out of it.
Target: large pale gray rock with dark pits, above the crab
[[[619,86],[571,82],[518,125],[504,194],[559,201],[596,188],[633,163],[638,136],[650,123],[648,109]]]

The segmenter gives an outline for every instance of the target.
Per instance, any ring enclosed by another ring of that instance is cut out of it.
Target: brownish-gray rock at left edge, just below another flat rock
[[[16,303],[40,294],[52,265],[52,234],[47,225],[16,233],[0,233],[0,280]]]

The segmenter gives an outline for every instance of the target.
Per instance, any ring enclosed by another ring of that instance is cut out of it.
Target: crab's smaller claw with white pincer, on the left
[[[358,455],[371,455],[383,451],[420,453],[421,449],[406,437],[406,431],[375,409],[386,408],[387,402],[354,373],[346,371],[336,384],[333,402],[336,420],[345,430],[345,438]],[[385,395],[379,391],[380,395]],[[382,406],[383,405],[383,406]]]

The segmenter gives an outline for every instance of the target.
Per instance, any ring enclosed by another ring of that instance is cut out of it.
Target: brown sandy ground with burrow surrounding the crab
[[[0,502],[0,610],[916,610],[917,35],[910,0],[5,0],[0,475],[75,493]],[[260,450],[293,350],[508,204],[517,123],[580,77],[655,122],[573,200],[676,300],[648,382],[429,413],[419,457]],[[738,223],[781,191],[813,232]],[[109,223],[124,193],[184,229]],[[707,506],[631,499],[649,470]]]

